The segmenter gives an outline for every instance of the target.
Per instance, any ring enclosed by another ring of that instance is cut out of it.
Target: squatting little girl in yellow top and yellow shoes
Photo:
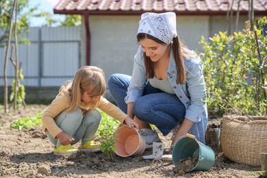
[[[60,88],[58,96],[42,113],[42,128],[55,145],[55,155],[101,150],[93,140],[101,122],[97,107],[129,128],[138,128],[135,121],[102,97],[105,89],[105,75],[96,66],[79,68],[73,81]],[[75,149],[72,145],[79,140],[81,147]]]

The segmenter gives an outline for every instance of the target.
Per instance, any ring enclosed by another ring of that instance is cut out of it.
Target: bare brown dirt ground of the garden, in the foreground
[[[216,153],[214,166],[208,171],[179,175],[172,161],[164,160],[164,168],[143,160],[142,156],[119,157],[110,160],[105,153],[84,153],[64,157],[53,155],[53,145],[40,127],[16,131],[10,124],[21,117],[35,116],[46,105],[27,105],[14,113],[0,109],[0,177],[260,177],[260,166],[231,162],[222,152]],[[160,135],[165,148],[170,147],[170,136]],[[79,147],[79,145],[75,145]],[[168,151],[168,150],[166,150]],[[152,150],[143,155],[151,155]]]

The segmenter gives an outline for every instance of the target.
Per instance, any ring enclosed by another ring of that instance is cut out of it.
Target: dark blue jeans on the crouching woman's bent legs
[[[131,76],[114,74],[108,81],[112,97],[120,110],[127,114],[125,97]],[[164,136],[182,123],[186,115],[186,107],[181,103],[176,94],[162,92],[150,84],[144,88],[142,97],[133,103],[133,114],[145,123],[155,125]]]

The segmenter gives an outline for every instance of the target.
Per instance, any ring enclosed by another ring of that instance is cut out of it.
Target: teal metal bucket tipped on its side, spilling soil
[[[215,163],[215,153],[207,145],[196,140],[195,136],[186,134],[181,136],[173,147],[173,164],[188,157],[198,157],[197,164],[189,172],[209,170]]]

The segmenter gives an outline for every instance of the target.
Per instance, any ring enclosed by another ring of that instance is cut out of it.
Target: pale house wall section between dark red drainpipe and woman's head
[[[130,75],[138,49],[138,16],[90,16],[91,65],[99,66],[106,77],[112,73]]]

